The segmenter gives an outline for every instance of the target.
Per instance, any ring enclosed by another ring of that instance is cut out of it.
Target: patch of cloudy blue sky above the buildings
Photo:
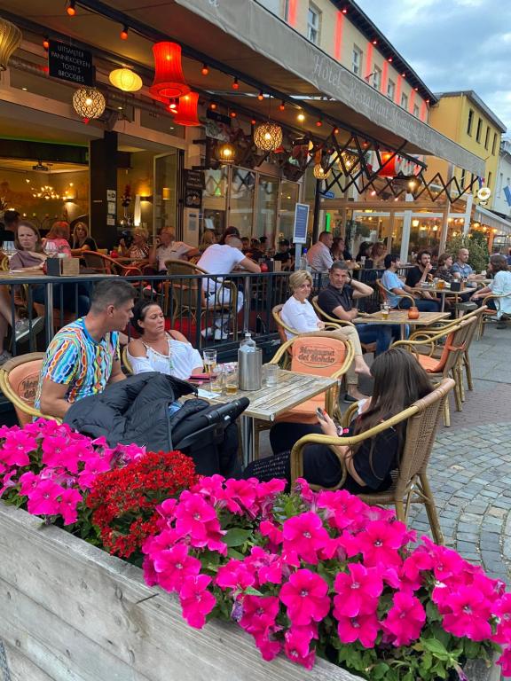
[[[429,90],[475,90],[511,137],[511,0],[356,1]]]

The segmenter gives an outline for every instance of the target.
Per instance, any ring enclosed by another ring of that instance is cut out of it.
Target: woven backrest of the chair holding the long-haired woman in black
[[[444,379],[429,395],[413,403],[418,411],[406,423],[405,447],[401,455],[396,495],[402,498],[406,486],[417,474],[425,473],[435,442],[436,429],[454,380]]]

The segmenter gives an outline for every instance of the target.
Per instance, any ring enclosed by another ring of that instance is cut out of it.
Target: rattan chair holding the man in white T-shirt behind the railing
[[[169,298],[172,296],[172,326],[175,325],[177,317],[189,317],[195,324],[202,325],[205,317],[225,316],[225,320],[232,319],[232,331],[234,340],[238,338],[238,288],[232,281],[225,280],[216,289],[216,302],[208,304],[206,292],[202,288],[201,275],[208,275],[206,270],[202,270],[193,262],[185,260],[167,260],[165,262],[169,276],[179,277],[184,275],[196,274],[197,278],[172,279],[163,282],[163,314],[169,312]],[[211,276],[211,275],[210,275]],[[224,289],[229,291],[229,301],[223,302],[222,296]],[[249,301],[246,302],[249,304]],[[208,326],[206,319],[206,326]]]

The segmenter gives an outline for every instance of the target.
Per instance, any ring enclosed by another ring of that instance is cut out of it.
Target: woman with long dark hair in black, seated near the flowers
[[[271,427],[273,456],[260,458],[247,466],[243,476],[259,481],[291,479],[290,450],[308,434],[350,437],[365,433],[382,421],[397,416],[411,404],[428,395],[433,386],[415,357],[402,348],[392,348],[377,356],[371,365],[373,396],[362,406],[362,413],[347,433],[328,416],[318,426],[280,422]],[[326,444],[309,444],[303,449],[303,478],[311,484],[330,488],[342,479],[342,463],[347,469],[342,489],[352,494],[381,492],[392,484],[392,473],[399,468],[405,446],[406,421],[389,427],[358,445],[339,444],[334,450]]]

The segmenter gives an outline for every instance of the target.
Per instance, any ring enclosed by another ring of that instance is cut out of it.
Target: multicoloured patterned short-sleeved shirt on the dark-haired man
[[[105,390],[114,361],[119,359],[119,333],[106,333],[94,340],[81,317],[60,329],[51,340],[43,359],[43,369],[35,394],[39,409],[43,379],[66,385],[66,399],[74,403]]]

